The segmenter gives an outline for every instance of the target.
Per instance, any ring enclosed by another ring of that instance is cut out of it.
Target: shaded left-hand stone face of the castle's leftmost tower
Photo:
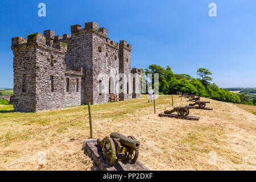
[[[36,48],[28,47],[24,40],[13,38],[11,46],[14,53],[14,111],[30,112],[35,111],[36,104]]]

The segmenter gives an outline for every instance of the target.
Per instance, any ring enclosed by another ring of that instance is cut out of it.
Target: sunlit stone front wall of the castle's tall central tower
[[[97,24],[95,26],[98,27]],[[96,29],[97,30],[97,29]],[[118,44],[101,34],[93,34],[93,100],[101,104],[109,101],[109,94],[118,96]],[[101,81],[101,85],[99,82]],[[110,85],[109,85],[110,84]],[[100,86],[102,92],[100,93]]]

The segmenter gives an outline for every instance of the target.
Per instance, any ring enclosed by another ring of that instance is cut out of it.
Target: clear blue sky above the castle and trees
[[[46,17],[38,4],[46,4]],[[217,17],[208,15],[216,3]],[[71,34],[72,24],[96,22],[115,42],[132,47],[131,67],[170,65],[174,73],[213,73],[220,87],[256,86],[256,1],[0,1],[0,87],[13,88],[11,38],[53,30]]]

